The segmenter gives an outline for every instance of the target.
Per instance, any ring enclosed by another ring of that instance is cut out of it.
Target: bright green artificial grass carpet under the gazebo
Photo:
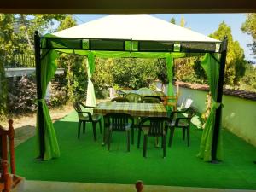
[[[148,157],[141,148],[131,145],[126,152],[123,132],[113,132],[110,151],[102,147],[102,135],[97,129],[94,142],[87,124],[86,133],[77,138],[77,116],[71,113],[55,122],[61,157],[38,161],[34,158],[35,137],[15,149],[16,172],[30,180],[49,180],[84,183],[135,183],[138,179],[150,185],[189,186],[205,188],[256,189],[256,148],[228,131],[224,133],[224,161],[219,164],[204,162],[196,157],[201,130],[191,127],[191,143],[187,147],[181,130],[175,131],[172,148],[154,147],[154,138],[148,140]],[[98,127],[97,127],[98,128]],[[136,131],[137,136],[137,131]]]

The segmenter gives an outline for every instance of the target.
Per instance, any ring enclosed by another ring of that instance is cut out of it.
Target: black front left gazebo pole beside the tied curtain
[[[41,61],[40,61],[40,37],[38,31],[34,34],[35,44],[35,61],[36,61],[36,77],[37,77],[37,95],[38,100],[43,99],[41,84]],[[44,159],[44,113],[42,102],[38,101],[38,132],[39,132],[39,156],[38,159]]]

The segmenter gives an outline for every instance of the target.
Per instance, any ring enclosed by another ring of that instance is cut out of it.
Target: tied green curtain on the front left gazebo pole
[[[45,42],[43,42],[45,44]],[[43,58],[41,59],[41,89],[42,89],[42,98],[38,99],[38,102],[42,102],[43,106],[43,115],[44,115],[44,160],[50,160],[52,158],[60,157],[60,149],[58,146],[57,138],[55,136],[55,129],[52,124],[52,121],[49,116],[49,108],[47,107],[44,96],[46,94],[47,85],[49,84],[50,79],[52,79],[55,75],[56,64],[55,59],[58,57],[56,51],[54,49],[43,50]],[[40,136],[38,129],[38,119],[37,119],[37,156],[40,155]]]

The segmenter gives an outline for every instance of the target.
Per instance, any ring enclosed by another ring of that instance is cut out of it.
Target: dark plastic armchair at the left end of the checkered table
[[[96,123],[100,124],[100,131],[102,133],[102,122],[101,122],[102,116],[98,114],[91,115],[90,112],[83,111],[81,106],[84,107],[85,109],[94,108],[94,107],[85,106],[82,102],[73,103],[73,108],[76,110],[79,116],[78,138],[80,137],[81,124],[83,123],[83,133],[85,133],[86,122],[90,122],[92,123],[93,137],[94,137],[94,140],[96,141],[97,140]]]

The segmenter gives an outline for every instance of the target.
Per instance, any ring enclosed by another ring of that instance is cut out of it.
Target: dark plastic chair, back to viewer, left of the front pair
[[[107,113],[104,116],[104,125],[105,129],[108,129],[108,150],[110,149],[112,132],[125,131],[127,134],[127,151],[130,151],[130,132],[133,129],[133,118],[131,115],[126,113]]]

